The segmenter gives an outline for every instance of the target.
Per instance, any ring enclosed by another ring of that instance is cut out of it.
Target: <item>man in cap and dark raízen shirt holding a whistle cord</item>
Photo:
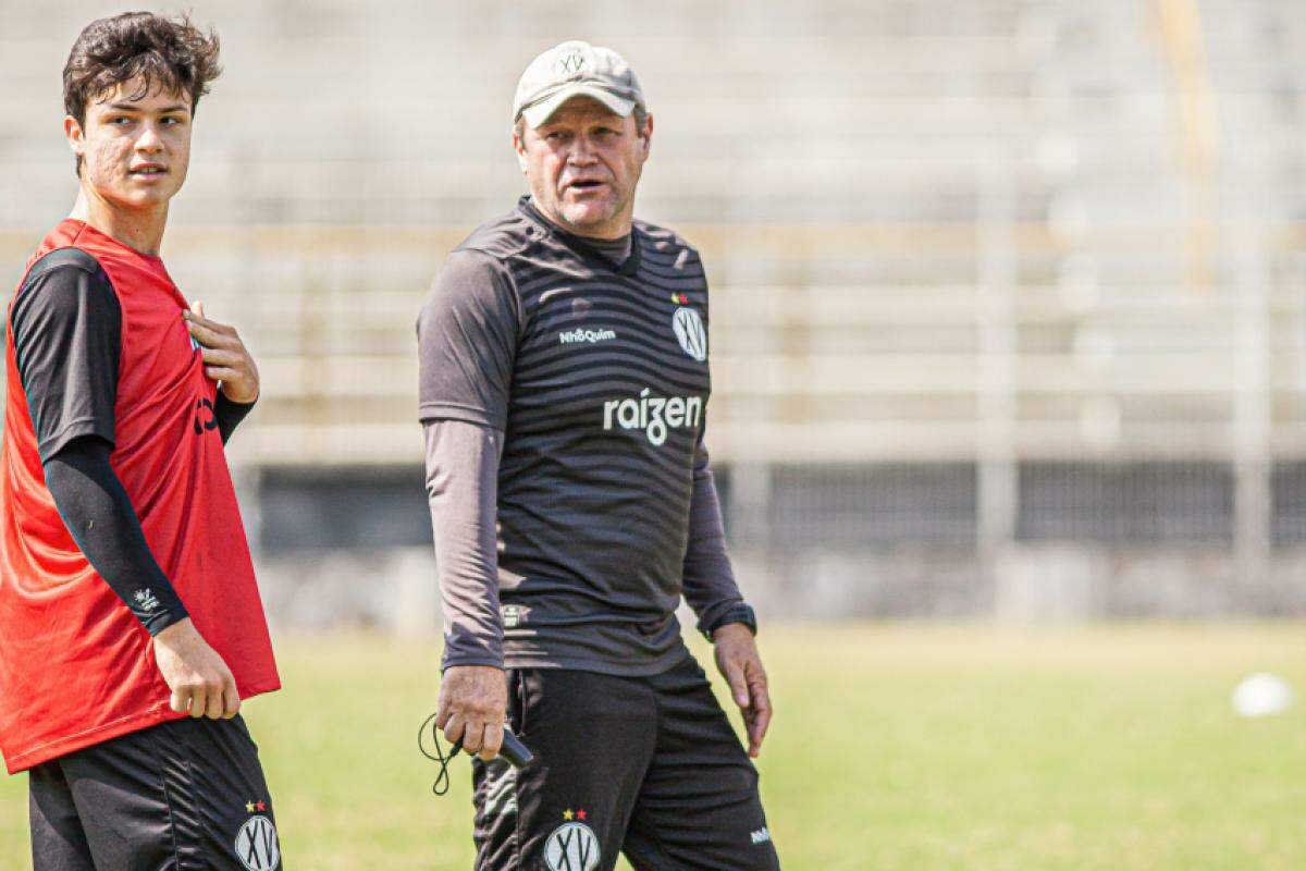
[[[477,867],[777,868],[748,760],[771,700],[703,445],[707,279],[632,219],[653,120],[626,61],[584,42],[528,67],[513,119],[530,196],[449,256],[418,321],[436,722],[481,755]],[[682,593],[748,753],[680,637]],[[538,760],[520,772],[494,759],[505,709]]]

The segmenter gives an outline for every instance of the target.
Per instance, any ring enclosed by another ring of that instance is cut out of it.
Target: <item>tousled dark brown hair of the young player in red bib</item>
[[[141,97],[159,87],[185,94],[193,115],[221,73],[212,30],[204,33],[185,16],[124,12],[90,22],[77,37],[64,64],[64,110],[85,124],[88,103],[138,78]]]

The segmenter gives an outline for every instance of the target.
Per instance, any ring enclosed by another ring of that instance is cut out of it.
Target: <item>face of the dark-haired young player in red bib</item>
[[[68,142],[82,158],[82,187],[121,209],[166,204],[191,163],[191,99],[158,87],[140,91],[140,80],[123,82],[86,106],[85,124],[64,119]]]

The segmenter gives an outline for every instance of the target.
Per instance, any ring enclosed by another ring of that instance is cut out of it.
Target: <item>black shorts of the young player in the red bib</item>
[[[276,871],[272,797],[244,721],[176,720],[30,772],[35,871]]]

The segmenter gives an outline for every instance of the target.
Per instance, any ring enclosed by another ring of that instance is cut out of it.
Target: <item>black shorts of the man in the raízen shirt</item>
[[[479,871],[780,867],[757,770],[692,658],[650,678],[512,669],[508,708],[535,760],[473,761]]]

